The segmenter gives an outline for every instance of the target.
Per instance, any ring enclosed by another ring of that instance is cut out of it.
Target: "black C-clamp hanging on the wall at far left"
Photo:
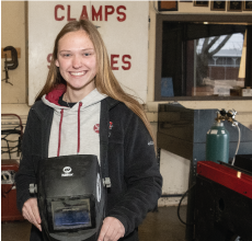
[[[9,78],[8,70],[13,70],[18,68],[19,66],[18,51],[12,46],[8,46],[3,48],[3,51],[8,51],[8,50],[11,50],[11,60],[7,60],[7,55],[5,55],[4,70],[3,70],[5,72],[5,79],[3,79],[2,81],[5,81],[5,83],[10,83],[11,85],[13,85],[13,83],[9,81],[10,78]]]

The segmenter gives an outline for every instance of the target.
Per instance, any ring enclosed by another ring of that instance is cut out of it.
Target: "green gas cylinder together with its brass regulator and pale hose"
[[[237,112],[234,110],[221,110],[217,112],[217,118],[211,128],[207,131],[206,135],[206,160],[209,161],[222,161],[229,162],[229,133],[225,128],[221,120],[228,120],[232,126],[238,128],[239,140],[234,157],[232,159],[232,165],[234,164],[234,158],[237,156],[239,146],[240,146],[240,128],[238,122],[234,119]]]

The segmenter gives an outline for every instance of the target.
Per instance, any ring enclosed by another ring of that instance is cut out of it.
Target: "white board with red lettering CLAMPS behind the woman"
[[[149,0],[30,0],[28,104],[45,84],[62,26],[88,15],[99,26],[117,80],[146,102]]]

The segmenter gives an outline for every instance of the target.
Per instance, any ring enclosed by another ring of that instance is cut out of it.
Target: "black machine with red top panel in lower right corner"
[[[247,170],[197,162],[195,241],[252,240],[252,173]]]

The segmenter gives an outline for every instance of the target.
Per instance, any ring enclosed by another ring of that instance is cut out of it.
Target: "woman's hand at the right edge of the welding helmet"
[[[103,220],[103,226],[98,241],[117,241],[125,234],[123,223],[113,217],[107,217]]]

